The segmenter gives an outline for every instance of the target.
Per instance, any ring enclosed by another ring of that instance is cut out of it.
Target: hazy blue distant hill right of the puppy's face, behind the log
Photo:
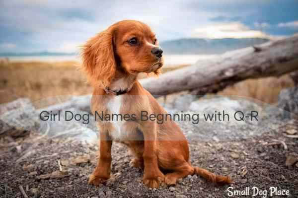
[[[269,41],[263,38],[245,39],[177,39],[164,41],[160,46],[165,54],[222,54]]]

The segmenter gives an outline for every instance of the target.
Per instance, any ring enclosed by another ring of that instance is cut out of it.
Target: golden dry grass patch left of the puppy
[[[82,95],[92,88],[75,62],[0,65],[0,103],[19,97],[37,101],[60,95]]]

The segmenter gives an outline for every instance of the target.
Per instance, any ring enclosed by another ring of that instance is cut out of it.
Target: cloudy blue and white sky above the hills
[[[0,53],[78,52],[111,24],[147,23],[159,41],[298,32],[298,0],[1,0]]]

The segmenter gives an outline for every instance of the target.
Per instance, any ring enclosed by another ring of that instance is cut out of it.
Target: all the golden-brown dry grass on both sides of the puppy
[[[92,88],[76,62],[18,62],[0,64],[0,103],[20,97],[37,101],[61,95],[90,94]],[[168,72],[180,66],[166,66]],[[146,77],[146,75],[142,76]],[[294,86],[289,75],[280,78],[249,79],[224,89],[219,94],[255,98],[267,103],[277,102],[281,89]]]

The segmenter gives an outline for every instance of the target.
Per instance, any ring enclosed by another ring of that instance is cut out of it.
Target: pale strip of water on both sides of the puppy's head
[[[165,66],[175,66],[181,64],[194,64],[200,60],[213,59],[217,55],[164,55]],[[61,61],[80,61],[77,56],[15,56],[8,57],[10,62],[61,62]]]

